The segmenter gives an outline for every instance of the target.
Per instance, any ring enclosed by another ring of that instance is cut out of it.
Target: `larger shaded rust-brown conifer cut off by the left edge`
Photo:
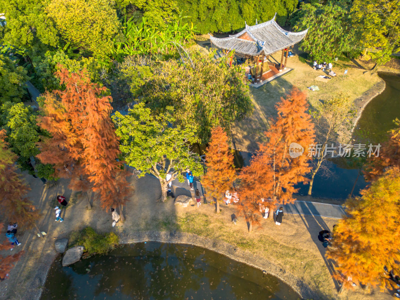
[[[21,180],[17,169],[13,164],[16,156],[7,148],[4,142],[5,132],[0,131],[0,205],[1,210],[6,215],[12,217],[12,222],[18,222],[26,229],[37,225],[35,221],[39,217],[33,203],[25,197],[30,189],[25,182]],[[40,232],[39,228],[37,228]]]

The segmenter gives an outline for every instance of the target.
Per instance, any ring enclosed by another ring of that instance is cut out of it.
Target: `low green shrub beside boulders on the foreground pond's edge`
[[[70,236],[71,246],[84,246],[84,255],[105,254],[118,245],[119,238],[114,232],[99,234],[92,227],[75,231]]]

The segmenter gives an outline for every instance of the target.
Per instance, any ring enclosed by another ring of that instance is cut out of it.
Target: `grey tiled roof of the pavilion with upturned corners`
[[[269,55],[303,39],[308,29],[301,32],[286,31],[275,22],[275,16],[276,13],[269,21],[253,26],[245,24],[243,30],[229,37],[218,38],[210,35],[211,44],[220,49],[235,50],[237,53],[255,56],[262,51],[264,55]],[[239,38],[245,33],[252,40]]]

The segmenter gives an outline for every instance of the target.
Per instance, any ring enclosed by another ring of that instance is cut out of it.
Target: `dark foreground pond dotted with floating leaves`
[[[56,259],[47,299],[300,299],[261,270],[204,248],[158,242],[124,245],[63,267]]]

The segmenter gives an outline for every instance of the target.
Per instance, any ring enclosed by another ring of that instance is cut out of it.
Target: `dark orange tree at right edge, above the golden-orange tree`
[[[395,119],[396,128],[389,132],[389,140],[384,142],[379,149],[379,155],[373,154],[365,167],[366,180],[376,179],[388,166],[400,166],[400,120]]]

